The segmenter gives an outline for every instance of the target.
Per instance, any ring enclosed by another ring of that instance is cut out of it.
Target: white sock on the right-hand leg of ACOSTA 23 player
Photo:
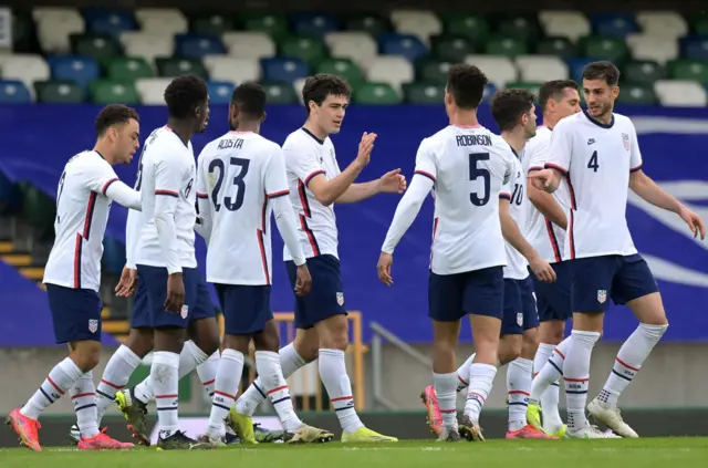
[[[270,398],[278,417],[285,430],[295,430],[302,426],[302,422],[295,415],[290,399],[288,382],[280,368],[280,356],[270,351],[256,352],[256,372],[261,378],[262,389]]]

